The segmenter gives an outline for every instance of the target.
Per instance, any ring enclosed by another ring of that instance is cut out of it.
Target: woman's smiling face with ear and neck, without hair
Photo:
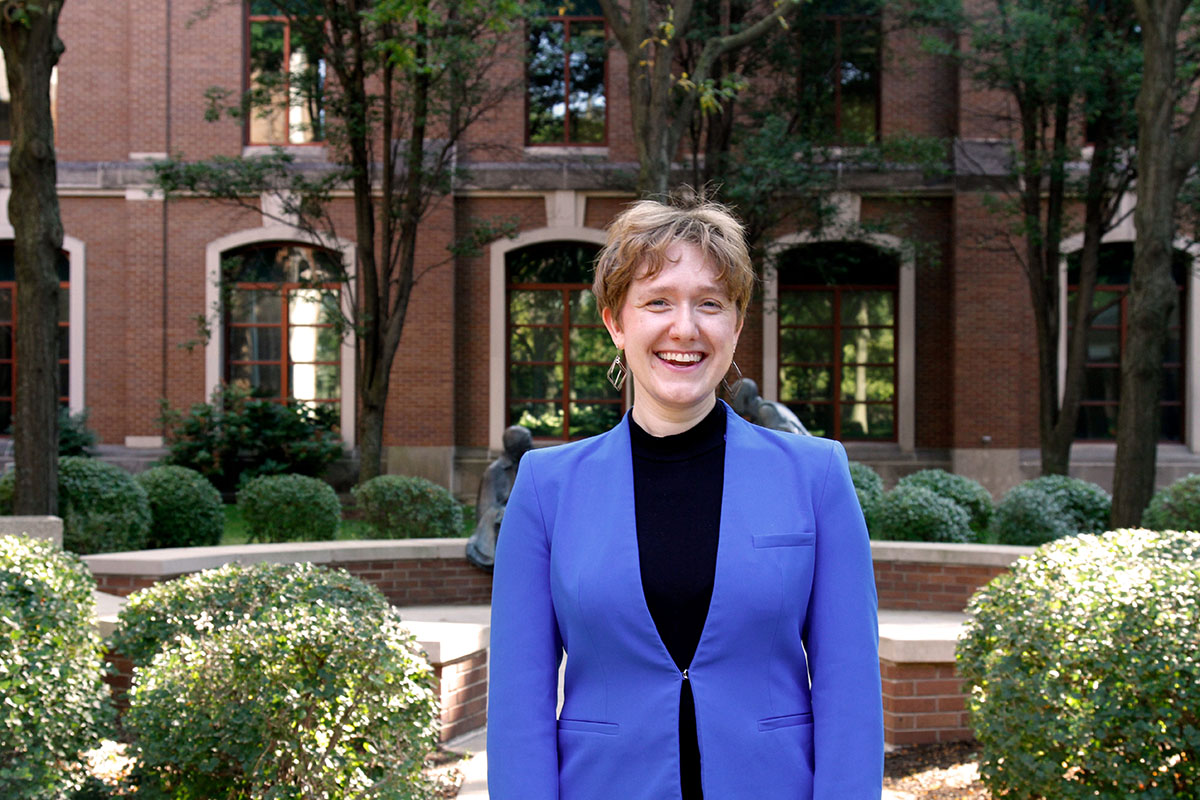
[[[695,246],[667,248],[653,277],[638,273],[619,312],[602,312],[634,378],[634,419],[654,435],[686,431],[716,402],[742,332],[716,267]]]

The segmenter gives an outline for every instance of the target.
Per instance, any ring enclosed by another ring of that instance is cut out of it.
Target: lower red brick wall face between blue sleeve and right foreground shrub
[[[973,739],[962,679],[954,664],[880,661],[883,680],[883,739],[890,745]]]

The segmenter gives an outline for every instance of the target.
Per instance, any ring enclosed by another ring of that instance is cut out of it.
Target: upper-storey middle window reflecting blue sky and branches
[[[529,144],[606,142],[604,16],[596,0],[564,2],[529,24]]]

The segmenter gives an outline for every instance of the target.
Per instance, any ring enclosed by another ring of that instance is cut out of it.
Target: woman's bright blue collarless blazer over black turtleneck
[[[688,670],[704,796],[878,800],[875,579],[846,452],[726,414],[716,577]],[[628,416],[522,458],[490,668],[492,800],[679,798],[684,675],[642,591]]]

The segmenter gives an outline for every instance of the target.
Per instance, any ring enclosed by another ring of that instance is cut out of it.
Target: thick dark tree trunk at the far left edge
[[[52,0],[32,10],[7,2],[0,14],[0,46],[12,95],[8,219],[17,263],[13,512],[18,515],[58,513],[59,395],[66,387],[59,389],[62,219],[55,193],[50,71],[64,49],[56,32],[61,6]]]

